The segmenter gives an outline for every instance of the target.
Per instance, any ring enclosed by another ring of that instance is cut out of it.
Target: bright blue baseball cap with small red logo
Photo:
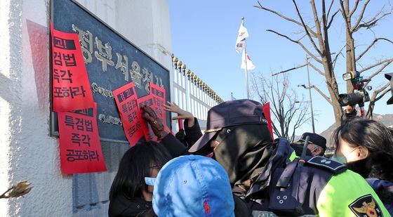
[[[215,160],[185,155],[172,159],[154,180],[157,216],[234,217],[234,198],[225,169]]]

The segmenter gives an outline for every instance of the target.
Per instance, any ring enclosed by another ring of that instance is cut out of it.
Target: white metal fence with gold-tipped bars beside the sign
[[[172,56],[173,72],[173,102],[179,105],[182,110],[191,112],[199,119],[202,128],[206,126],[208,110],[223,100],[199,77],[186,70],[187,67],[182,61]],[[175,131],[178,126],[175,125]]]

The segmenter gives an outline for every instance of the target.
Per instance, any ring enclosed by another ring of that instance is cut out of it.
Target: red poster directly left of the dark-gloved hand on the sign
[[[143,136],[145,120],[138,106],[138,96],[133,81],[113,91],[124,132],[131,146],[134,146]]]

